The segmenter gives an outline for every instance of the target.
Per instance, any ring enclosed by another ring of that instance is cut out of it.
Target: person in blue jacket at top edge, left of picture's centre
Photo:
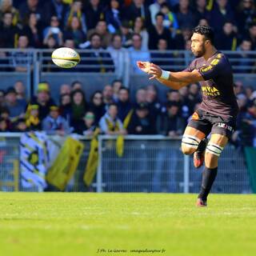
[[[121,22],[119,2],[110,0],[110,7],[106,10],[106,24],[111,34],[120,30]]]

